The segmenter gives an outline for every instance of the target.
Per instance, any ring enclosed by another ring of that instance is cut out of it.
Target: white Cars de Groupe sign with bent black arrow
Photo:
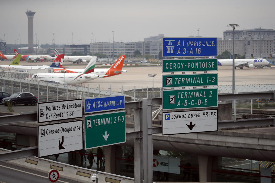
[[[82,120],[38,126],[38,156],[83,149]]]

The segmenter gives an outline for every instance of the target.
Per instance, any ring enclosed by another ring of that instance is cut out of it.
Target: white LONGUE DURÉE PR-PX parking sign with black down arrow
[[[162,135],[218,131],[217,111],[163,112]]]

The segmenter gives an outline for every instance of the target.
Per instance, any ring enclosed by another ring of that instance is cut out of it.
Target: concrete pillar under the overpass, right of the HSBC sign
[[[212,182],[213,156],[198,155],[200,182]]]

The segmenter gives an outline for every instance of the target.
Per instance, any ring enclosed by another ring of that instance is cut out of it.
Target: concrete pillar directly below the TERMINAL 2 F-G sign
[[[105,146],[104,157],[105,157],[105,172],[115,174],[115,152],[116,146]]]

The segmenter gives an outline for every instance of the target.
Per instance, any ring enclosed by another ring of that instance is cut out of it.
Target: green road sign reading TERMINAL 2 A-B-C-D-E
[[[163,90],[162,93],[163,110],[218,106],[217,88]]]

